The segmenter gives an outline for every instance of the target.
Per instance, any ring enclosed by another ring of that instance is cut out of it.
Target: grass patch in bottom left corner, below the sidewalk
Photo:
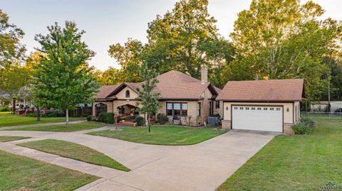
[[[0,151],[0,190],[75,190],[98,177]]]

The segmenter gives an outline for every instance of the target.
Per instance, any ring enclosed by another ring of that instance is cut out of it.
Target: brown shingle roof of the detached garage
[[[217,100],[237,102],[291,102],[304,97],[304,80],[230,81]]]

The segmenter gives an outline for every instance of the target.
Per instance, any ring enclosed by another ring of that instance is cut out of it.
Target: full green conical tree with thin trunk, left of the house
[[[76,23],[66,21],[64,28],[55,23],[48,34],[36,35],[38,51],[46,53],[35,68],[34,97],[40,107],[53,107],[66,111],[76,104],[90,103],[98,84],[87,61],[95,53],[81,40],[85,31],[78,31]]]

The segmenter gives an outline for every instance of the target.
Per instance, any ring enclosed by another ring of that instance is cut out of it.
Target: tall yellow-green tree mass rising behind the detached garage
[[[312,1],[253,0],[239,13],[231,34],[237,60],[232,79],[303,77],[309,100],[327,92],[330,72],[326,58],[339,50],[341,23],[319,21],[323,9]]]

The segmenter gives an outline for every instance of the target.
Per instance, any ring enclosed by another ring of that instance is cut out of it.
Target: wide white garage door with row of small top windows
[[[283,132],[283,108],[232,106],[232,129]]]

